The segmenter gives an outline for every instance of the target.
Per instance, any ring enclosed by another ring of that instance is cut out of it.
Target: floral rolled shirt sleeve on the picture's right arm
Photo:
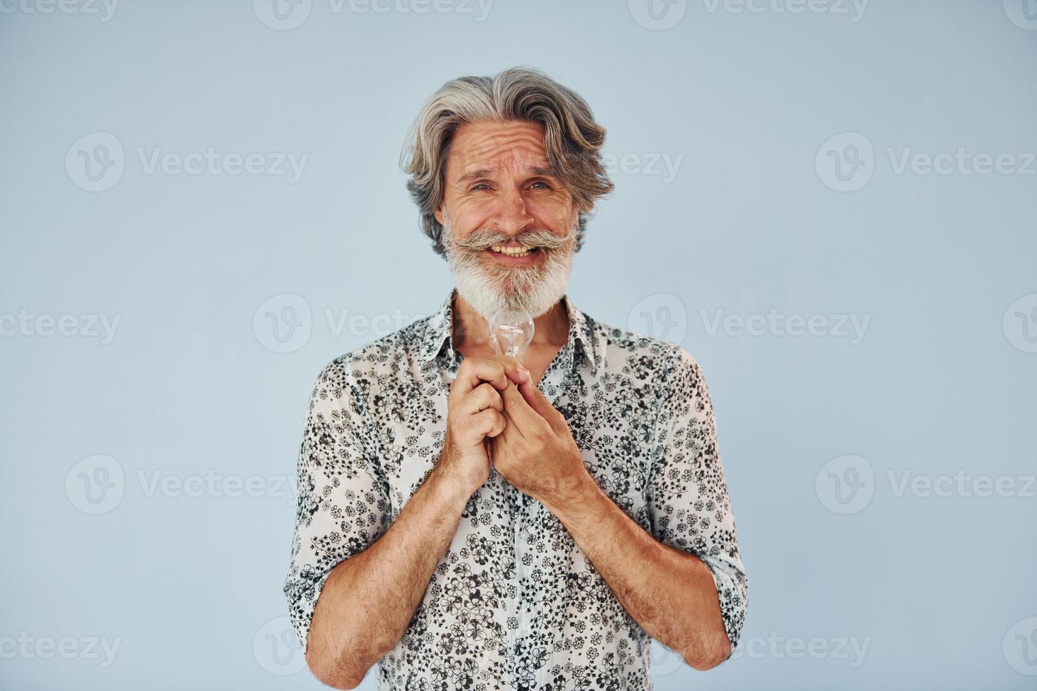
[[[665,375],[646,499],[652,535],[712,573],[731,649],[741,634],[748,578],[717,447],[712,402],[698,363],[676,346]]]

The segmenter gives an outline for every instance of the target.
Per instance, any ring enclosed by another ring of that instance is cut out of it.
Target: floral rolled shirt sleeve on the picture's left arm
[[[288,612],[306,651],[313,610],[331,570],[387,529],[389,491],[376,435],[359,403],[347,356],[321,370],[299,450],[296,534],[284,582]]]

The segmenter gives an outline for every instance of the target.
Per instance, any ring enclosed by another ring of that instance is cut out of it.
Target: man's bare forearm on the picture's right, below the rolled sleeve
[[[644,530],[588,473],[564,499],[548,499],[624,609],[695,669],[731,654],[712,574],[694,554]]]

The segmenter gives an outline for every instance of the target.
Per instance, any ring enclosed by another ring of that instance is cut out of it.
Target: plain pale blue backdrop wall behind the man
[[[423,99],[531,64],[617,164],[570,296],[716,405],[742,645],[656,688],[1033,688],[1037,3],[419,1],[3,1],[0,686],[320,686],[281,638],[307,397],[452,285],[397,167]],[[147,165],[208,147],[262,172]]]

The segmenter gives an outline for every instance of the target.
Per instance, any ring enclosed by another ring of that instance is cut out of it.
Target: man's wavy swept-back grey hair
[[[580,94],[533,67],[511,67],[494,77],[458,77],[444,84],[421,108],[400,154],[411,176],[407,189],[421,213],[421,229],[445,257],[443,203],[447,155],[457,127],[484,120],[528,120],[543,126],[548,164],[566,185],[579,210],[577,247],[587,217],[614,185],[601,164],[605,127]],[[410,156],[410,161],[408,161]]]

